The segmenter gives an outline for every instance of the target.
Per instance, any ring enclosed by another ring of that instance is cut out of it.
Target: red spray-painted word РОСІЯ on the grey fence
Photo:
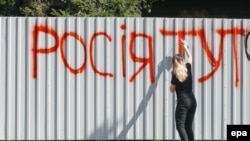
[[[125,29],[125,25],[121,26],[122,29]],[[49,34],[51,35],[54,39],[55,39],[55,45],[52,47],[48,47],[48,48],[39,48],[38,47],[38,40],[39,40],[39,33],[45,33],[45,34]],[[149,66],[149,72],[150,72],[150,81],[151,83],[154,82],[154,65],[153,65],[153,43],[152,43],[152,37],[150,35],[144,34],[144,33],[136,33],[136,32],[131,32],[130,33],[130,45],[129,45],[129,50],[130,50],[130,57],[131,60],[134,61],[135,63],[141,63],[142,65],[139,67],[139,69],[130,77],[129,81],[133,82],[136,78],[136,76],[138,74],[140,74],[140,72],[143,71],[143,69],[145,69],[147,66]],[[84,62],[81,65],[80,68],[78,69],[74,69],[70,66],[70,64],[67,62],[67,58],[64,55],[64,42],[66,41],[67,37],[71,36],[73,38],[75,38],[76,40],[78,40],[85,52],[85,58],[84,58]],[[91,40],[90,40],[90,64],[91,67],[93,69],[93,71],[100,75],[100,76],[109,76],[109,77],[113,77],[112,73],[109,72],[103,72],[98,70],[98,68],[96,67],[96,65],[94,64],[94,41],[96,40],[96,38],[98,36],[104,36],[108,39],[108,41],[112,41],[112,37],[110,35],[108,35],[105,32],[96,32],[92,35]],[[137,38],[144,38],[148,41],[148,52],[149,52],[149,56],[148,57],[140,57],[137,56],[133,50],[135,48],[135,42]],[[125,35],[122,36],[122,43],[125,43]],[[59,44],[60,43],[60,44]],[[49,53],[53,53],[56,52],[57,49],[60,47],[60,54],[61,54],[61,59],[65,65],[65,67],[67,69],[69,69],[69,71],[73,74],[78,74],[78,73],[82,73],[86,67],[86,61],[87,61],[87,49],[86,49],[86,45],[84,43],[83,38],[78,35],[75,32],[66,32],[62,35],[62,37],[60,37],[57,32],[48,27],[48,26],[44,26],[44,25],[39,25],[39,26],[35,26],[33,29],[33,47],[32,47],[32,53],[33,53],[33,78],[37,78],[37,57],[38,54],[49,54]],[[123,67],[123,76],[126,76],[126,71],[125,71],[125,46],[122,45],[122,67]]]

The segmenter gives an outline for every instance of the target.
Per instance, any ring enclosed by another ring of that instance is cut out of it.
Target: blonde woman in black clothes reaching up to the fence
[[[177,94],[175,121],[180,138],[182,141],[194,141],[192,123],[197,103],[192,90],[192,54],[186,41],[181,40],[180,43],[184,48],[184,53],[187,54],[188,60],[186,62],[179,54],[173,56],[170,91]]]

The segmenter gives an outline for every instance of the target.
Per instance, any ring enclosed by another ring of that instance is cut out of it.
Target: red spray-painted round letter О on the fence
[[[65,40],[67,39],[68,36],[72,36],[72,37],[74,37],[76,40],[80,41],[80,43],[81,43],[81,45],[82,45],[82,47],[83,47],[83,49],[84,49],[84,53],[85,53],[85,55],[84,55],[84,62],[83,62],[83,64],[81,65],[81,67],[78,68],[78,69],[72,68],[72,67],[69,65],[69,63],[68,63],[68,61],[67,61],[67,58],[66,58],[65,55],[64,55],[64,42],[65,42]],[[68,68],[69,71],[70,71],[71,73],[73,73],[73,74],[77,74],[77,73],[83,72],[84,69],[85,69],[85,67],[86,67],[86,62],[87,62],[87,49],[86,49],[86,45],[85,45],[84,40],[82,39],[82,37],[81,37],[80,35],[78,35],[77,33],[75,33],[75,32],[64,33],[63,36],[62,36],[62,38],[61,38],[61,40],[60,40],[60,45],[61,45],[61,48],[60,48],[61,57],[62,57],[63,63],[64,63],[64,65],[66,66],[66,68]]]

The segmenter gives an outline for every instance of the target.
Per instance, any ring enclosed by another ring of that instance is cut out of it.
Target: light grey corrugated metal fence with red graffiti
[[[250,124],[250,21],[0,17],[0,139],[179,139],[171,57],[193,54],[195,139]]]

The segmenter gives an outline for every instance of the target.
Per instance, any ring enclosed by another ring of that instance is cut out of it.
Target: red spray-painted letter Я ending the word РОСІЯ
[[[135,55],[134,53],[134,47],[135,47],[135,41],[137,37],[142,37],[142,38],[146,38],[148,40],[148,51],[149,51],[149,56],[148,58],[144,58],[144,57],[138,57]],[[150,81],[151,83],[154,82],[154,60],[153,60],[153,39],[151,36],[143,34],[143,33],[135,33],[132,32],[131,33],[131,40],[130,40],[130,56],[131,59],[134,62],[139,62],[139,63],[143,63],[142,66],[135,72],[135,74],[133,74],[131,76],[131,78],[129,79],[130,82],[133,82],[135,77],[147,66],[147,64],[149,64],[149,71],[150,71]]]

